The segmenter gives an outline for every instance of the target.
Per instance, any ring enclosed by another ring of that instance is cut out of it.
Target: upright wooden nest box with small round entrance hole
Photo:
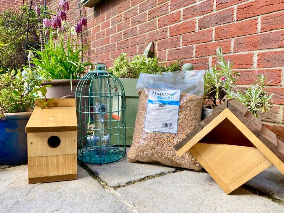
[[[36,106],[26,125],[30,184],[77,177],[75,99],[54,99],[49,106]]]

